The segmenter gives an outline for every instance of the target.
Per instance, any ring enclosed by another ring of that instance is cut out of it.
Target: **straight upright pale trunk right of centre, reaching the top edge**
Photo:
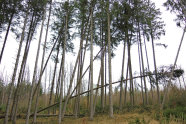
[[[109,0],[107,2],[107,21],[108,21],[108,69],[109,69],[109,116],[113,115],[113,101],[112,101],[112,64],[111,64],[111,35],[110,35],[110,9]]]

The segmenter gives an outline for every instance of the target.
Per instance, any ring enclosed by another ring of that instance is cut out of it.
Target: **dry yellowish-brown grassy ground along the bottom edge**
[[[109,118],[109,116],[106,114],[98,114],[94,116],[93,121],[90,121],[89,117],[81,117],[78,119],[67,117],[63,120],[62,124],[184,124],[184,122],[178,122],[176,120],[167,121],[167,119],[154,117],[155,116],[153,113],[135,112],[114,114],[114,118]],[[18,119],[17,124],[25,124],[25,120]],[[38,118],[37,124],[58,124],[58,118]]]

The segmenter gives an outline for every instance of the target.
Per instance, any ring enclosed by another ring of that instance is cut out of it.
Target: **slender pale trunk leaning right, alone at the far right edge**
[[[168,81],[168,84],[167,84],[167,88],[165,89],[165,94],[163,96],[163,101],[162,101],[162,104],[161,104],[161,110],[163,110],[163,107],[164,107],[164,104],[165,104],[165,99],[166,99],[167,93],[168,93],[168,89],[171,85],[171,80],[172,80],[172,77],[173,77],[173,74],[174,74],[174,69],[175,69],[175,66],[176,66],[176,63],[177,63],[177,60],[178,60],[178,56],[179,56],[179,53],[180,53],[181,45],[183,43],[183,38],[184,38],[185,32],[186,32],[186,26],[183,30],[183,35],[182,35],[182,38],[181,38],[181,41],[180,41],[180,44],[179,44],[179,48],[178,48],[178,51],[177,51],[177,54],[176,54],[176,58],[175,58],[175,61],[174,61],[173,68],[171,70],[171,75],[170,75],[170,78],[169,78],[169,81]]]

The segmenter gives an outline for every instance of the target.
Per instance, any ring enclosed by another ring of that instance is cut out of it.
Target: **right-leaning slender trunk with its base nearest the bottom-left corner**
[[[14,86],[14,82],[15,82],[15,78],[16,78],[16,72],[17,72],[19,58],[20,58],[20,54],[21,54],[22,43],[23,43],[24,36],[25,36],[25,29],[26,29],[26,24],[27,24],[27,20],[28,20],[29,9],[30,9],[30,5],[28,5],[28,9],[27,9],[27,12],[26,12],[24,25],[23,25],[23,30],[22,30],[22,34],[21,34],[21,40],[20,40],[20,43],[19,43],[19,49],[18,49],[18,52],[17,52],[16,62],[15,62],[15,67],[14,67],[14,71],[13,71],[13,75],[12,75],[12,80],[11,80],[11,83],[10,83],[10,90],[9,90],[8,101],[7,101],[7,106],[6,106],[4,124],[8,124],[8,114],[9,114],[9,109],[10,109],[10,102],[11,102],[11,99],[12,99],[13,86]]]

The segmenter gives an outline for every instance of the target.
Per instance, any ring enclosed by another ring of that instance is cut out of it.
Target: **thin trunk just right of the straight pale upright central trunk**
[[[122,111],[122,94],[123,94],[123,73],[124,73],[124,63],[125,63],[125,47],[126,40],[123,45],[123,60],[122,60],[122,69],[121,69],[121,83],[120,83],[120,97],[119,97],[119,110]]]

